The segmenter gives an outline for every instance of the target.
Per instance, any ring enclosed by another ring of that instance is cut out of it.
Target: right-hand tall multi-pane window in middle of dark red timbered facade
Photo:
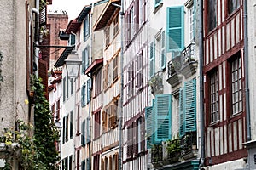
[[[231,65],[231,104],[232,116],[242,111],[242,81],[241,81],[241,56],[240,53],[230,62]]]

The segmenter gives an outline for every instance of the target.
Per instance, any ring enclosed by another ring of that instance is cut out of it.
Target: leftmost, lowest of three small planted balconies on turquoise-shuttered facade
[[[153,77],[148,81],[148,85],[151,88],[152,94],[162,94],[163,93],[163,72],[158,71]]]

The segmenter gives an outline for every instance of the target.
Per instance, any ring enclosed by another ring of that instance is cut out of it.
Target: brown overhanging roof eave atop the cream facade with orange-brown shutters
[[[120,4],[120,0],[109,0],[106,4],[105,8],[103,8],[102,14],[99,16],[98,20],[96,20],[95,25],[93,26],[93,31],[98,31],[107,26],[108,20],[110,20],[113,12],[116,8],[119,8],[113,3]]]

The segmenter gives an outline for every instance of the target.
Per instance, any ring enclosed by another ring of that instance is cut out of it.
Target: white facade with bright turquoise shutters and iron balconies
[[[148,39],[148,167],[198,169],[199,56],[196,1],[150,3]]]

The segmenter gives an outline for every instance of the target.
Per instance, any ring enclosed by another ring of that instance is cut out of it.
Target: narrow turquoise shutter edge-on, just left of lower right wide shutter
[[[179,136],[182,137],[184,135],[184,90],[180,88],[179,90]]]

